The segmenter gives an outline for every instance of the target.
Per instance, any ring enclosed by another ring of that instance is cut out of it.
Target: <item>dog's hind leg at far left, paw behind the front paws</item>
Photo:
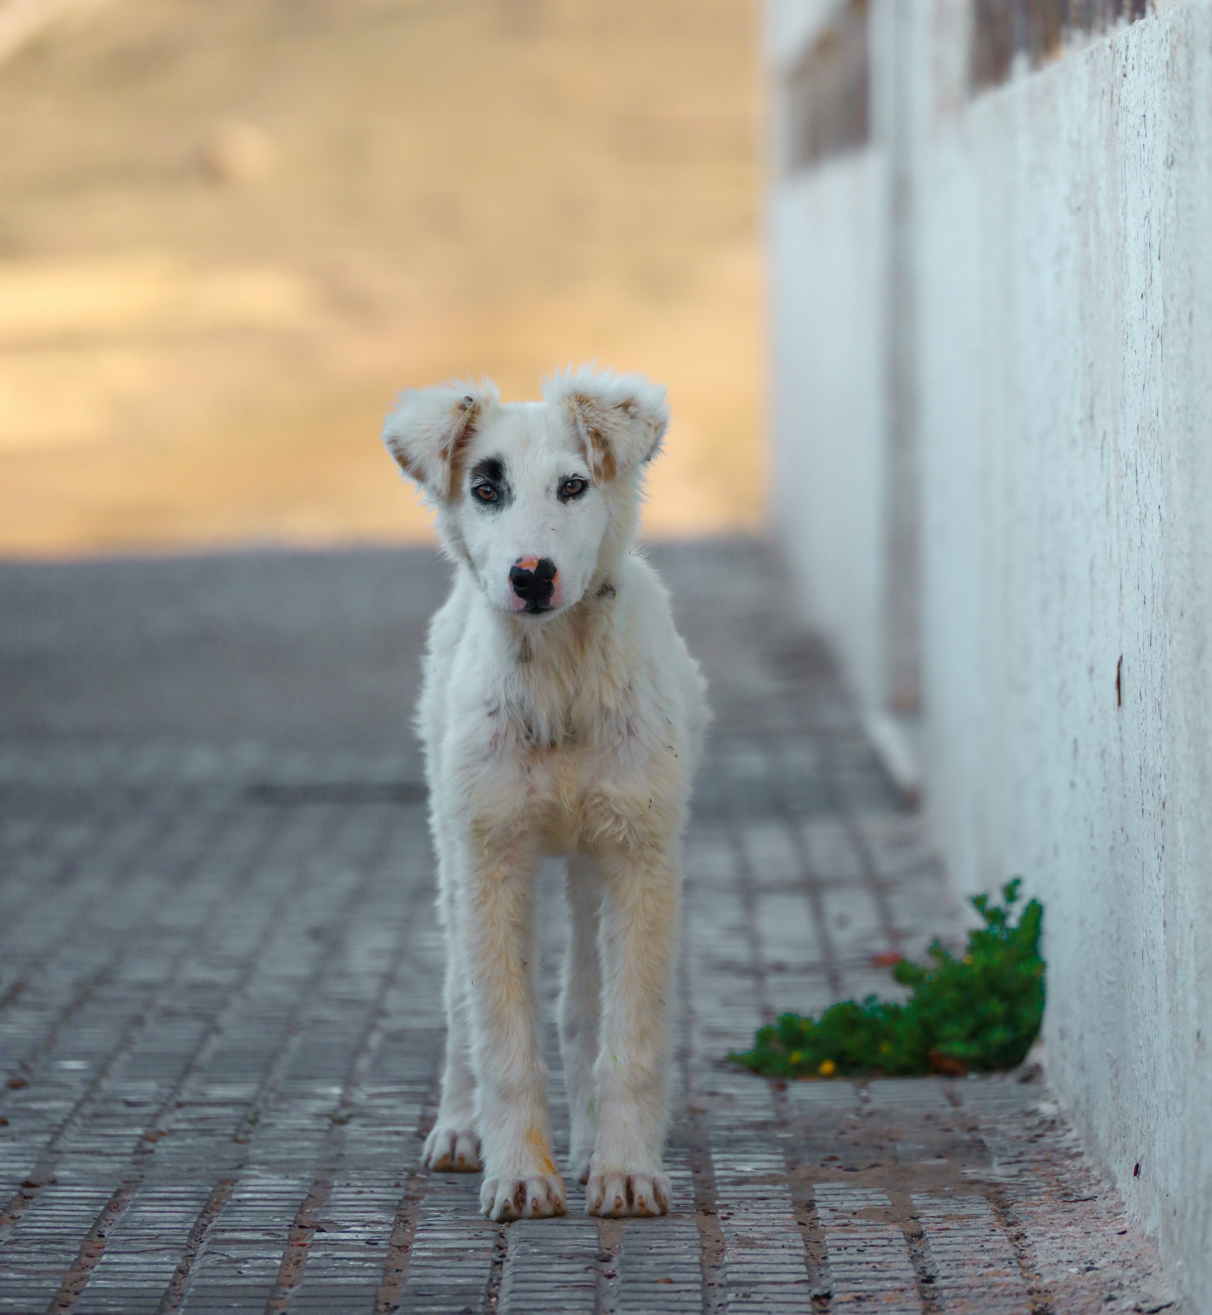
[[[438,857],[438,918],[446,930],[446,1066],[438,1118],[425,1139],[424,1161],[440,1173],[476,1173],[480,1139],[475,1131],[475,1073],[471,1069],[471,1020],[467,1016],[466,965],[457,934],[454,892],[446,860]]]

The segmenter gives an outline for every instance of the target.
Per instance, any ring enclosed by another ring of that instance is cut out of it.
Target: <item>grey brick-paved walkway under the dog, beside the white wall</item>
[[[0,1311],[1176,1310],[1036,1065],[783,1085],[721,1063],[961,922],[763,551],[659,558],[717,710],[676,1210],[596,1222],[574,1189],[512,1226],[417,1159],[442,951],[401,727],[441,568],[0,568]]]

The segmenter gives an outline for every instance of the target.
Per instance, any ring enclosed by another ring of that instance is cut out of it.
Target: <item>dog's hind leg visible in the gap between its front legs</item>
[[[584,855],[568,856],[568,909],[571,934],[559,992],[559,1053],[565,1064],[572,1136],[568,1173],[590,1180],[590,1160],[597,1140],[597,1099],[593,1065],[599,1051],[597,914],[601,876]]]

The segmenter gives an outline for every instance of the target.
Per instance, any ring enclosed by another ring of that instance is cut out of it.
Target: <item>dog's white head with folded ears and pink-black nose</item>
[[[501,404],[490,380],[421,388],[383,430],[488,601],[534,618],[578,602],[630,543],[644,463],[669,423],[665,389],[638,375],[582,366],[542,396]]]

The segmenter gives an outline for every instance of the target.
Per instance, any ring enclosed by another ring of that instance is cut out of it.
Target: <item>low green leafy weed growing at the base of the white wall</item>
[[[1020,880],[1004,905],[975,896],[984,926],[953,957],[940,942],[926,965],[901,959],[892,976],[912,995],[899,1005],[867,995],[841,1001],[819,1019],[783,1014],[758,1030],[751,1051],[729,1055],[766,1077],[909,1076],[1012,1068],[1030,1049],[1044,1018],[1044,909],[1029,901],[1013,920]]]

